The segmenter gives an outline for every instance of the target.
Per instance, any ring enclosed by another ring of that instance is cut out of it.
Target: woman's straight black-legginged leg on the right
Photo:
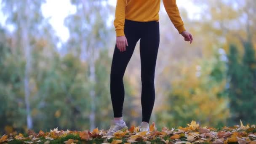
[[[155,103],[155,66],[159,47],[159,22],[144,23],[140,40],[142,121],[149,123]]]

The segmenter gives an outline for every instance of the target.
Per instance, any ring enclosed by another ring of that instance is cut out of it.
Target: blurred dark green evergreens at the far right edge
[[[243,43],[244,54],[240,62],[237,47],[230,45],[228,76],[229,76],[229,99],[232,109],[231,122],[254,123],[256,112],[256,57],[253,45],[249,41]]]

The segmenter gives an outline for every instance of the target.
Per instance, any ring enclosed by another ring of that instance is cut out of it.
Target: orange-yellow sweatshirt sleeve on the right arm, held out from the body
[[[179,9],[176,5],[176,0],[163,0],[163,4],[165,6],[165,11],[167,12],[171,22],[173,23],[174,27],[181,32],[185,31],[184,23],[181,19]]]

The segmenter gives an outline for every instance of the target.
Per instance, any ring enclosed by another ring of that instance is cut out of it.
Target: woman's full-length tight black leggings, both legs
[[[115,45],[110,75],[110,94],[114,117],[123,116],[123,75],[131,59],[136,43],[140,40],[141,57],[141,106],[142,121],[149,123],[155,103],[155,65],[159,47],[159,22],[125,20],[126,51],[120,52]]]

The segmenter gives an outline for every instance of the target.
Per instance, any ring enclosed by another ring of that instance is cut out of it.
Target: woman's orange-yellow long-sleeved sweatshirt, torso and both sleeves
[[[165,11],[179,33],[186,30],[176,0],[163,0]],[[116,35],[124,36],[125,19],[132,21],[159,21],[160,0],[117,0],[115,10]]]

